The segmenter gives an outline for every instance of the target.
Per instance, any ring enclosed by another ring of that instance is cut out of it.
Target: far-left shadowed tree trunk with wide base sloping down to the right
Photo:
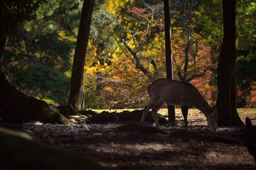
[[[68,123],[58,110],[44,101],[29,97],[12,87],[3,67],[3,52],[6,41],[4,34],[4,1],[0,0],[0,117],[9,123],[22,124],[40,120],[50,123]]]

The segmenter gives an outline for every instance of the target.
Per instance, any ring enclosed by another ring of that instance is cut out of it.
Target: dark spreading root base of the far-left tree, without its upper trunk
[[[0,74],[0,76],[3,74]],[[26,96],[17,91],[9,82],[6,89],[0,89],[0,117],[10,124],[41,121],[52,124],[68,124],[67,118],[60,114],[58,108],[35,97]]]

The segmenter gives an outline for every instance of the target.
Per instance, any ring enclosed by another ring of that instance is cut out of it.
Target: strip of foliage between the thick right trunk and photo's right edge
[[[250,0],[237,1],[238,60],[237,85],[238,106],[255,107],[256,81],[256,3]],[[253,92],[254,90],[254,92]],[[253,100],[254,98],[254,100]]]

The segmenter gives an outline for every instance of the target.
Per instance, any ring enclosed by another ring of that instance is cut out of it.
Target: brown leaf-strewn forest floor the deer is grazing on
[[[253,124],[256,124],[255,113],[255,109],[239,110],[241,119],[250,117]],[[36,141],[83,153],[109,169],[255,169],[253,157],[243,146],[244,127],[209,131],[205,116],[198,110],[189,110],[187,129],[179,109],[176,119],[175,125],[161,126],[166,134],[117,131],[116,127],[124,125],[119,123],[51,125],[36,122],[25,124],[19,130]]]

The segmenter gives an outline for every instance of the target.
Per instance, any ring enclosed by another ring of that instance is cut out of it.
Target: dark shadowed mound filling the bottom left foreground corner
[[[24,135],[0,131],[0,169],[105,169],[78,153],[31,141],[19,134]]]

